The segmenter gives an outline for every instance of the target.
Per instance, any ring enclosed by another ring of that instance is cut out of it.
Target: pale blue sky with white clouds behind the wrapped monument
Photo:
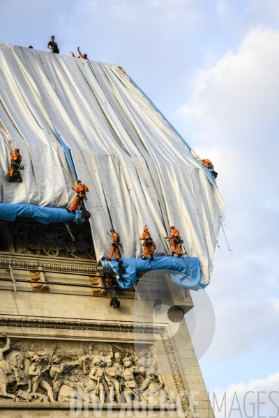
[[[200,360],[206,387],[231,398],[238,391],[241,405],[250,390],[279,391],[278,0],[0,0],[0,6],[7,17],[0,42],[46,50],[54,35],[61,54],[80,46],[89,59],[122,65],[213,162],[233,255],[220,231],[206,289],[216,317]],[[274,399],[279,405],[279,394]],[[276,416],[271,401],[261,408],[256,417]]]

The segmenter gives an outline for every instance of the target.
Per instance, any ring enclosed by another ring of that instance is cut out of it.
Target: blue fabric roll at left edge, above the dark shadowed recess
[[[67,212],[64,208],[46,208],[27,204],[0,203],[0,219],[13,222],[17,216],[30,217],[41,224],[52,222],[82,222],[82,212]]]

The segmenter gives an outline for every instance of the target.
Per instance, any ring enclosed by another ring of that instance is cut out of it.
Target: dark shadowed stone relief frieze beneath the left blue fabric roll
[[[9,224],[9,229],[18,254],[96,259],[90,232],[73,231],[72,240],[66,229],[28,224]]]

